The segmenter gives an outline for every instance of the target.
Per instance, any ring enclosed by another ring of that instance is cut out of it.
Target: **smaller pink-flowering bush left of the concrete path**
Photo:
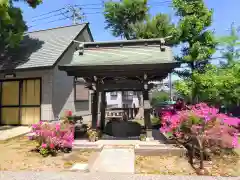
[[[32,125],[37,142],[36,150],[43,156],[56,155],[58,151],[69,152],[74,141],[74,126],[69,123],[48,123],[40,121]]]

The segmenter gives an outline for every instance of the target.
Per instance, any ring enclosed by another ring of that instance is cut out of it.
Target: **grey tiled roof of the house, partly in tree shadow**
[[[0,70],[53,66],[87,24],[27,33],[20,48],[8,60],[0,59]]]

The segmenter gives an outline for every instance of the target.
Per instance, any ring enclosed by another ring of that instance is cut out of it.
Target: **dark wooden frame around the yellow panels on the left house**
[[[40,80],[40,104],[39,105],[21,105],[21,97],[22,97],[22,88],[23,88],[23,81],[25,80]],[[19,82],[19,101],[18,105],[6,105],[2,106],[2,83],[7,81],[18,81]],[[21,124],[21,108],[40,108],[40,120],[42,119],[42,78],[41,77],[33,77],[33,78],[18,78],[18,79],[0,79],[0,125],[6,125],[2,124],[2,108],[19,108],[19,117],[18,122],[19,124],[16,124],[17,126]]]

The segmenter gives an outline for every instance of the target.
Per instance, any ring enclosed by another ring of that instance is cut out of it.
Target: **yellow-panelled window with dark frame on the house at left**
[[[0,86],[1,124],[30,125],[40,121],[40,79],[5,80]]]

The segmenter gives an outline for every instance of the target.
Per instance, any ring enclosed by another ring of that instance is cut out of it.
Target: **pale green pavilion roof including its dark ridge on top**
[[[137,41],[136,41],[137,42]],[[159,43],[84,43],[83,50],[76,51],[70,66],[134,65],[174,62],[171,47]],[[82,52],[81,52],[82,51]]]

